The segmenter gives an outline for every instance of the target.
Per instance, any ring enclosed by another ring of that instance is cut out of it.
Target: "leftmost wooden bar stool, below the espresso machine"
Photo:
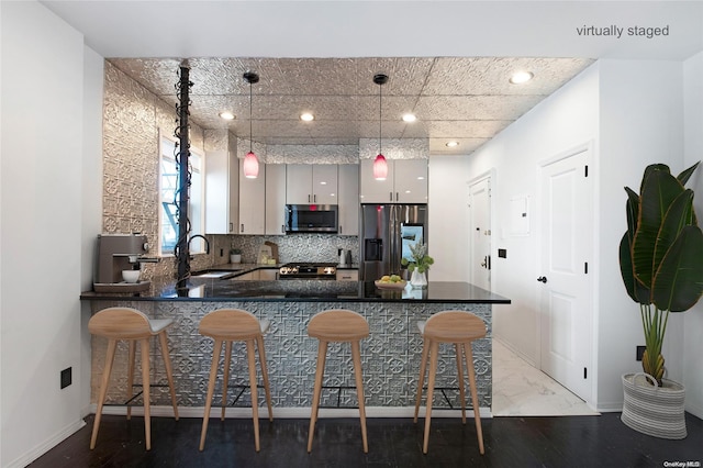
[[[102,371],[100,383],[100,395],[98,397],[98,411],[92,424],[92,436],[90,437],[90,449],[96,448],[98,438],[98,427],[102,416],[102,406],[108,394],[110,383],[110,372],[114,361],[114,353],[118,341],[126,341],[130,344],[130,370],[127,375],[127,398],[131,401],[132,385],[134,379],[134,360],[136,355],[136,342],[141,344],[142,353],[142,392],[144,393],[144,432],[146,436],[146,449],[152,448],[152,422],[149,410],[149,338],[158,335],[161,345],[161,356],[166,366],[166,376],[174,405],[174,416],[178,421],[178,406],[176,404],[176,390],[174,389],[174,374],[171,361],[168,356],[168,344],[166,342],[166,328],[174,323],[172,319],[149,319],[136,309],[109,308],[103,309],[88,322],[88,330],[91,334],[108,338],[108,354],[105,355],[105,368]],[[127,419],[131,416],[131,409],[127,406]]]

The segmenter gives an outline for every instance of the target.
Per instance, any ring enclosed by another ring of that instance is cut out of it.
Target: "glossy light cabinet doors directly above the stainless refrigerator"
[[[373,159],[359,164],[361,203],[427,203],[427,159],[388,161],[386,180],[373,178]]]

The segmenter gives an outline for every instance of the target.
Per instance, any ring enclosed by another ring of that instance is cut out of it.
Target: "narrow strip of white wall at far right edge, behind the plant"
[[[703,159],[703,52],[683,64],[684,166]],[[703,168],[689,182],[696,193],[694,200],[699,223],[703,216]],[[703,303],[683,314],[682,382],[687,389],[685,408],[703,417]]]

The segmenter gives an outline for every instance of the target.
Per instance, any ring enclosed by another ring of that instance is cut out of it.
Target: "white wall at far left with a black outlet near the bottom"
[[[82,424],[83,43],[37,2],[2,2],[1,16],[0,466],[12,467]]]

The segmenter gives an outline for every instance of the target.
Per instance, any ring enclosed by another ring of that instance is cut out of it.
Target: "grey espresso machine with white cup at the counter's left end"
[[[150,281],[140,281],[143,263],[156,263],[158,258],[146,257],[149,244],[141,234],[98,235],[93,290],[96,292],[138,292],[149,289]],[[123,275],[123,271],[129,271]]]

